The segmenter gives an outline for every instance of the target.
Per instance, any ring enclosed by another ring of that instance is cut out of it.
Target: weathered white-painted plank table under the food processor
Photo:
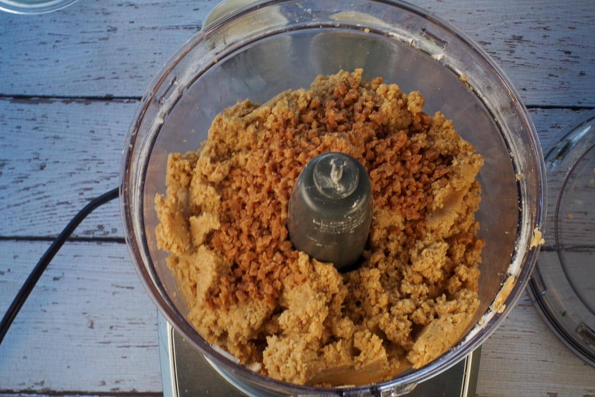
[[[118,185],[121,149],[159,67],[217,0],[80,0],[0,13],[0,315],[49,242]],[[595,107],[595,3],[418,1],[452,21],[521,92],[542,145]],[[524,294],[484,344],[478,396],[594,396],[595,369]],[[0,346],[0,395],[161,395],[156,310],[116,201],[62,248]],[[216,393],[214,394],[216,395]]]

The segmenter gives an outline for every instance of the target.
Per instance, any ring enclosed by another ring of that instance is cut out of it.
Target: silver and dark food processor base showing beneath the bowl
[[[230,379],[219,368],[213,367],[192,343],[184,340],[161,314],[158,314],[158,332],[164,397],[280,396]],[[475,396],[480,355],[481,347],[443,373],[419,383],[407,396]]]

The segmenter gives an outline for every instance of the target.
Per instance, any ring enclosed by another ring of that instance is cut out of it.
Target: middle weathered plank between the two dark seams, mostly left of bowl
[[[90,199],[118,186],[135,101],[0,98],[0,236],[56,236]],[[533,109],[540,139],[584,111]],[[193,150],[195,148],[189,148]],[[123,237],[117,201],[75,237]]]

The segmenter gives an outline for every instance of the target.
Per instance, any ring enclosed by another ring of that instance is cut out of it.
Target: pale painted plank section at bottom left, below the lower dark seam
[[[48,246],[0,242],[0,314]],[[161,391],[156,309],[126,245],[61,249],[0,345],[0,390]]]

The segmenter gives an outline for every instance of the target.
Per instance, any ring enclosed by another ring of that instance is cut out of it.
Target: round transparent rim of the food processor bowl
[[[539,252],[539,246],[529,248],[527,244],[527,250],[524,252],[515,251],[513,257],[511,258],[511,263],[515,261],[515,258],[522,254],[523,258],[521,258],[521,269],[519,270],[518,274],[514,276],[508,275],[502,282],[500,286],[500,291],[502,291],[502,286],[505,285],[506,280],[509,277],[516,277],[515,284],[513,285],[509,295],[505,299],[506,307],[502,312],[494,312],[493,315],[488,319],[487,324],[484,325],[484,329],[486,329],[485,333],[475,333],[474,335],[469,335],[472,333],[472,330],[477,327],[477,324],[471,328],[471,330],[463,335],[461,339],[453,345],[451,348],[447,349],[447,351],[443,352],[439,357],[434,358],[434,360],[430,361],[428,364],[424,365],[424,367],[418,368],[417,370],[412,371],[411,373],[404,374],[401,376],[393,377],[390,380],[386,380],[384,382],[373,383],[370,385],[362,385],[356,387],[314,387],[314,386],[305,386],[305,385],[297,385],[295,383],[284,382],[281,380],[273,379],[271,377],[263,376],[259,373],[255,373],[244,365],[237,364],[230,358],[220,354],[219,352],[215,351],[211,345],[209,345],[206,340],[202,339],[198,332],[192,327],[192,325],[180,314],[179,311],[171,302],[171,299],[168,296],[163,296],[161,290],[163,286],[159,281],[158,277],[155,276],[154,272],[154,265],[152,261],[149,264],[146,264],[142,258],[143,255],[140,252],[140,246],[137,243],[136,235],[131,233],[133,228],[133,214],[131,214],[130,209],[130,202],[131,202],[131,192],[128,191],[127,182],[130,178],[130,155],[132,152],[133,145],[136,141],[136,131],[139,129],[141,121],[143,120],[143,116],[145,112],[148,110],[148,106],[151,103],[151,99],[154,98],[156,92],[159,88],[161,88],[162,84],[168,77],[168,73],[176,67],[177,64],[181,61],[181,59],[186,55],[188,52],[192,51],[195,46],[199,45],[202,40],[209,35],[213,35],[220,29],[221,26],[224,26],[230,23],[237,18],[242,17],[243,15],[249,14],[252,11],[258,10],[259,8],[263,7],[270,7],[276,4],[281,3],[290,3],[295,2],[296,0],[261,0],[250,4],[246,7],[242,7],[239,10],[232,12],[231,14],[222,17],[214,23],[209,24],[208,27],[204,31],[198,32],[195,35],[191,36],[177,51],[172,55],[172,57],[165,63],[165,65],[159,70],[156,74],[156,77],[152,80],[149,88],[146,90],[145,94],[143,95],[139,106],[134,114],[133,121],[130,125],[129,133],[126,138],[126,143],[124,145],[123,150],[123,158],[121,161],[120,167],[120,212],[121,212],[121,219],[123,223],[124,235],[126,239],[127,246],[129,248],[129,253],[131,260],[133,261],[134,267],[136,268],[137,274],[145,287],[148,295],[151,297],[152,301],[164,315],[164,317],[173,324],[174,328],[180,332],[180,334],[185,337],[186,339],[190,340],[196,348],[199,349],[203,354],[208,355],[208,357],[215,358],[218,363],[222,363],[226,365],[229,369],[241,373],[243,376],[248,377],[249,379],[256,377],[260,382],[259,383],[268,383],[269,385],[273,383],[273,385],[277,387],[282,387],[283,389],[290,389],[292,392],[304,392],[304,393],[329,393],[329,392],[340,392],[340,391],[367,391],[367,390],[394,390],[395,387],[404,387],[403,391],[408,386],[417,385],[418,382],[422,382],[429,377],[435,376],[441,373],[444,370],[455,365],[457,362],[465,358],[469,352],[477,348],[481,343],[483,343],[502,323],[502,321],[506,318],[509,312],[512,310],[513,306],[515,305],[516,301],[521,296],[522,290],[525,289],[525,286],[528,283],[529,276],[531,271],[537,261],[537,255]],[[400,8],[403,11],[412,12],[417,14],[418,16],[425,18],[428,23],[436,24],[437,26],[441,27],[441,29],[446,30],[447,32],[451,33],[452,35],[456,36],[457,39],[461,41],[462,44],[465,44],[470,48],[475,55],[482,58],[486,61],[487,65],[491,68],[491,73],[494,76],[497,76],[503,83],[503,87],[508,90],[509,95],[512,98],[513,103],[516,105],[516,110],[518,111],[519,115],[522,115],[523,122],[527,125],[528,130],[530,132],[531,141],[533,143],[532,149],[536,151],[535,155],[538,158],[536,164],[536,174],[537,177],[537,191],[540,192],[540,196],[537,197],[537,212],[535,214],[535,221],[531,223],[531,230],[530,233],[533,231],[534,227],[538,227],[540,230],[543,230],[544,223],[546,220],[546,176],[545,176],[545,166],[543,162],[543,153],[541,151],[541,146],[539,144],[536,128],[531,120],[530,115],[528,114],[527,108],[523,104],[520,95],[516,91],[515,87],[512,85],[511,80],[506,76],[504,71],[494,62],[494,60],[488,55],[481,47],[475,43],[469,36],[467,36],[464,32],[459,30],[457,27],[453,26],[452,24],[442,20],[441,18],[437,17],[436,15],[431,14],[430,12],[417,7],[415,5],[409,4],[408,2],[401,1],[401,0],[362,0],[364,2],[372,2],[372,3],[380,3],[389,5],[392,7]],[[351,26],[345,26],[347,28]],[[305,27],[302,29],[309,29],[309,27]],[[277,33],[275,33],[277,34]],[[246,43],[243,43],[242,46],[245,46]],[[234,49],[233,51],[226,52],[225,54],[219,54],[221,58],[226,57],[229,53],[237,51]],[[208,70],[216,63],[215,60],[211,60],[211,64],[205,64],[205,70]],[[202,74],[202,73],[201,73]],[[195,76],[195,79],[201,75]],[[482,102],[483,100],[477,96],[477,98]],[[486,107],[487,109],[487,107]],[[146,167],[143,173],[146,172]],[[517,183],[517,186],[518,183]],[[144,178],[142,180],[142,187],[144,187]],[[143,189],[141,189],[142,191]],[[142,195],[140,195],[142,196]],[[521,191],[518,191],[519,198],[523,198],[524,196],[521,194]],[[140,198],[142,202],[142,198]],[[141,206],[142,207],[142,206]],[[142,210],[140,210],[142,211]],[[522,214],[519,214],[519,228],[522,227]],[[144,219],[142,219],[142,230],[144,231]],[[143,232],[144,233],[144,232]],[[134,237],[134,238],[131,238]],[[520,233],[517,233],[517,241],[521,237]],[[531,235],[529,234],[529,238]],[[148,252],[148,247],[146,247],[146,239],[143,239],[143,249]],[[149,272],[147,265],[150,265],[153,268],[154,274]],[[499,291],[499,292],[500,292]],[[488,308],[486,313],[491,309]],[[397,384],[395,384],[397,382]]]

